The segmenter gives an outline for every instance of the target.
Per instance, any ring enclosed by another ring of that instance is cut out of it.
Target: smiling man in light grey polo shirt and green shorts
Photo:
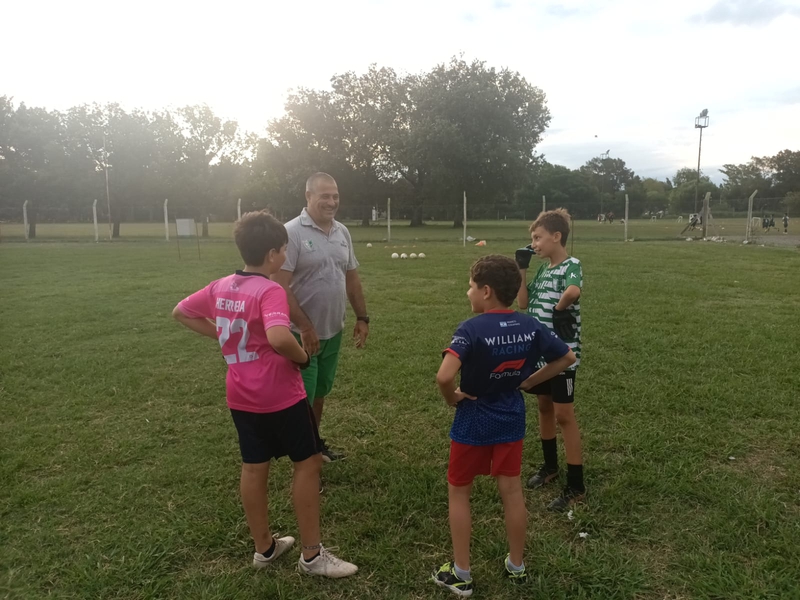
[[[356,314],[356,348],[366,344],[369,316],[353,240],[347,227],[334,219],[339,188],[333,177],[327,173],[309,177],[306,202],[300,216],[286,223],[286,262],[272,279],[286,289],[292,331],[311,355],[311,364],[302,375],[319,426],[325,396],[336,377],[347,301]],[[325,440],[322,446],[326,462],[343,458],[332,452]]]

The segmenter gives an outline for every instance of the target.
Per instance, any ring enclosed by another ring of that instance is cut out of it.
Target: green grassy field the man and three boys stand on
[[[434,374],[470,316],[469,265],[520,241],[482,227],[470,233],[487,248],[398,228],[424,261],[392,261],[388,244],[363,244],[380,233],[353,230],[372,331],[345,349],[323,422],[348,455],[324,469],[324,539],[361,567],[338,582],[302,578],[296,551],[249,566],[225,364],[169,318],[239,266],[226,234],[202,260],[189,244],[180,261],[156,242],[0,245],[0,598],[449,597],[427,580],[450,557],[452,412]],[[555,488],[526,492],[532,579],[509,587],[499,499],[480,480],[475,597],[800,598],[800,254],[595,242],[602,226],[580,227],[589,498],[569,520],[545,510]],[[540,460],[535,409],[528,430],[525,475]],[[289,477],[278,462],[271,520],[296,535]]]

